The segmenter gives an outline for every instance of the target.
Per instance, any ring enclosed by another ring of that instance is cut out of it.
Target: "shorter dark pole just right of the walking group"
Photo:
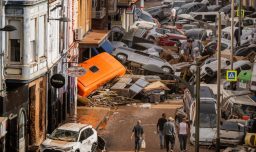
[[[195,152],[199,152],[199,127],[200,127],[200,66],[199,59],[196,58],[196,136],[195,136]]]

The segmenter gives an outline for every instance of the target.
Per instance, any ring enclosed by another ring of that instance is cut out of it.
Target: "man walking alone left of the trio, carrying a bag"
[[[132,130],[132,136],[131,139],[133,138],[133,136],[135,137],[135,152],[139,152],[140,151],[140,147],[141,147],[141,142],[143,140],[143,127],[141,126],[141,121],[138,120],[137,124],[133,127]]]

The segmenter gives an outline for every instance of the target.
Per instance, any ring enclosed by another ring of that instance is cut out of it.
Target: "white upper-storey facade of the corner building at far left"
[[[22,59],[19,63],[10,62],[10,51],[6,47],[9,51],[5,59],[7,79],[25,81],[34,79],[46,73],[58,62],[60,59],[60,21],[51,19],[60,18],[61,8],[53,9],[59,4],[61,4],[60,0],[50,4],[49,22],[47,22],[48,4],[46,0],[36,5],[23,6],[23,15],[20,16],[23,31],[19,33],[22,37]],[[9,12],[15,12],[15,8],[11,8]],[[14,13],[10,13],[6,20],[16,18]]]

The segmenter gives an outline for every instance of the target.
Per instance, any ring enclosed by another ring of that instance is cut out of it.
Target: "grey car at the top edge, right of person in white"
[[[198,3],[198,2],[193,2],[193,3],[188,3],[185,5],[182,5],[178,11],[177,15],[180,14],[189,14],[190,12],[207,12],[207,5],[203,3]]]

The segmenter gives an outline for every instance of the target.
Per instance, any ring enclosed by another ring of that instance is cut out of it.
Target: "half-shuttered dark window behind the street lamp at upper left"
[[[9,20],[9,24],[17,28],[17,30],[9,33],[9,52],[11,62],[21,62],[22,51],[22,23],[19,20]]]

